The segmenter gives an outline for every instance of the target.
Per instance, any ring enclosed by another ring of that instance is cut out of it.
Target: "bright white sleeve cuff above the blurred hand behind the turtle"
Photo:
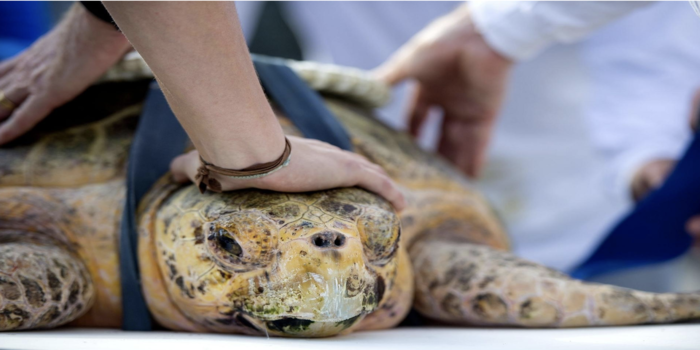
[[[470,4],[476,28],[496,51],[523,60],[570,43],[650,2],[524,1]]]

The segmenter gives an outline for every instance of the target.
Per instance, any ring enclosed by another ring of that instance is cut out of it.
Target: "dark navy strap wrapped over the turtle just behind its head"
[[[259,56],[253,60],[268,96],[305,137],[346,150],[352,148],[350,137],[319,94],[288,66],[282,61]],[[153,328],[139,282],[136,207],[143,195],[168,171],[170,161],[182,153],[186,142],[187,135],[158,85],[153,83],[134,135],[127,169],[127,194],[119,241],[124,330]]]

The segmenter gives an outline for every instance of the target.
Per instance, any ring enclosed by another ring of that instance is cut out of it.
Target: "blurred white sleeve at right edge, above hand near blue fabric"
[[[590,136],[607,163],[606,186],[618,198],[630,199],[632,178],[644,164],[679,159],[692,140],[697,33],[700,18],[687,3],[656,3],[578,48],[591,84],[585,97]]]

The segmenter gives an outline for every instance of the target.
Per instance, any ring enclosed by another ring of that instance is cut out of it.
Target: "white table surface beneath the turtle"
[[[326,339],[61,329],[0,333],[0,349],[700,350],[700,324],[581,329],[399,328]]]

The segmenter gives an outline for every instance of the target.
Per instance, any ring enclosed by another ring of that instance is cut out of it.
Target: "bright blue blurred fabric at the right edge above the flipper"
[[[623,218],[572,276],[587,279],[616,270],[661,263],[692,244],[686,221],[700,214],[700,132],[663,186]]]

